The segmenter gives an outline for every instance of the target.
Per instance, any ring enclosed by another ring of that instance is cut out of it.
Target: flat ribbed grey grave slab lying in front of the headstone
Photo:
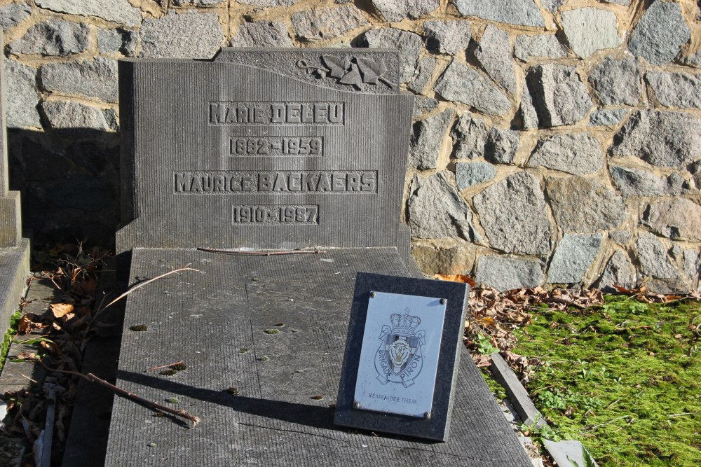
[[[409,277],[396,249],[135,249],[130,281],[185,264],[200,272],[130,295],[117,384],[161,403],[176,397],[174,407],[202,421],[188,429],[114,398],[107,466],[531,465],[464,347],[447,442],[334,425],[355,275]],[[130,330],[141,324],[147,330]],[[180,360],[188,368],[176,375],[144,372]]]

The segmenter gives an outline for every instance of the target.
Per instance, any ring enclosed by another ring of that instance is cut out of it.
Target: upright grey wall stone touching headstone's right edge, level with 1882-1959
[[[436,168],[440,149],[454,116],[455,111],[447,109],[436,116],[414,123],[409,145],[409,167],[419,170]]]

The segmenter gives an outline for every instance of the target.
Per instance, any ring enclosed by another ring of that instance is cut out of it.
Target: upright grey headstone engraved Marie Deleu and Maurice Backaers
[[[123,228],[135,247],[397,246],[413,98],[399,55],[224,49],[120,62]]]

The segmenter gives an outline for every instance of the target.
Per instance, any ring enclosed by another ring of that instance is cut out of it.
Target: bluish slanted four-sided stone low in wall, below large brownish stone
[[[565,234],[547,268],[550,284],[579,284],[601,249],[601,234]]]

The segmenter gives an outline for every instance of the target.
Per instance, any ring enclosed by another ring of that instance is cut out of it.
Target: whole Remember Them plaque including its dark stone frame
[[[358,273],[335,423],[446,440],[468,291]]]

